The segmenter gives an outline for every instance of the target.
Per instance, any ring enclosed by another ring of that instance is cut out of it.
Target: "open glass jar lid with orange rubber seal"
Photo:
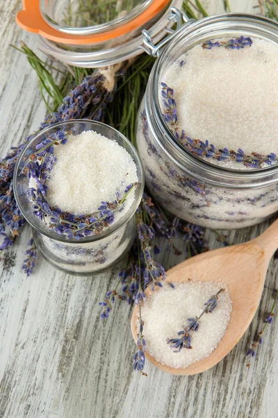
[[[182,0],[25,0],[17,24],[38,33],[40,49],[85,68],[112,65],[143,52],[142,30],[161,40]]]

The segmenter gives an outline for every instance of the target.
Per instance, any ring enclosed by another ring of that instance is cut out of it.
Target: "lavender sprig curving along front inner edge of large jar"
[[[237,151],[228,150],[227,148],[217,150],[215,146],[209,144],[207,140],[201,141],[200,139],[191,139],[186,135],[184,130],[181,130],[181,133],[179,133],[179,127],[177,125],[177,103],[174,100],[174,90],[165,83],[161,83],[161,86],[161,95],[163,97],[164,105],[164,121],[170,127],[171,132],[180,144],[196,157],[206,157],[217,161],[231,160],[253,169],[259,169],[263,167],[263,164],[271,166],[272,164],[277,163],[278,157],[275,153],[270,153],[268,155],[256,152],[245,154],[241,148],[238,148]]]

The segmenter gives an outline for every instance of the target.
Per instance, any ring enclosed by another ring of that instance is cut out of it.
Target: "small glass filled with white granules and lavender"
[[[86,120],[40,131],[14,174],[15,199],[36,246],[50,263],[78,274],[111,268],[130,249],[143,188],[131,142]]]

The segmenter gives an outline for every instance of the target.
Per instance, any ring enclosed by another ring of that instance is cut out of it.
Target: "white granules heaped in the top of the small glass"
[[[65,145],[54,151],[57,161],[47,185],[47,200],[63,211],[89,215],[101,201],[124,196],[127,185],[138,181],[136,164],[131,155],[116,141],[94,131],[71,135]],[[124,203],[124,212],[134,200],[131,190]]]

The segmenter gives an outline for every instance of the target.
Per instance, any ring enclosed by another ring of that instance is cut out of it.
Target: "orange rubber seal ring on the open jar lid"
[[[52,28],[42,19],[38,0],[23,0],[23,10],[17,13],[15,20],[17,24],[22,27],[22,29],[38,33],[43,38],[65,44],[82,45],[87,43],[104,42],[129,33],[130,31],[133,31],[133,29],[137,29],[145,22],[151,20],[152,17],[156,16],[167,5],[167,3],[169,3],[169,0],[154,0],[154,2],[147,9],[130,22],[127,22],[112,31],[98,33],[95,35],[76,36],[69,33],[63,33]]]

